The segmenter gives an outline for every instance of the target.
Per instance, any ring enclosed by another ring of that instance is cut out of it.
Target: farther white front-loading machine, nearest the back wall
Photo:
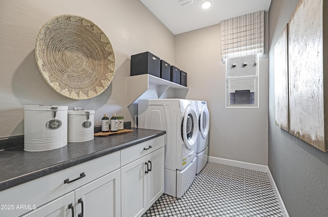
[[[202,170],[208,161],[209,154],[209,132],[210,132],[210,113],[206,101],[196,101],[198,115],[198,137],[197,137],[197,163],[196,174]]]

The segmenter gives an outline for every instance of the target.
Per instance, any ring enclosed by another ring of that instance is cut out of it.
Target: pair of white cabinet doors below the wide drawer
[[[120,216],[120,169],[79,187],[24,216],[91,217],[104,215]]]

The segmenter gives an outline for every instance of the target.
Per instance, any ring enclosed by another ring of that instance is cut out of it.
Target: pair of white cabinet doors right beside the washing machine
[[[164,192],[164,147],[121,167],[121,216],[141,216]]]

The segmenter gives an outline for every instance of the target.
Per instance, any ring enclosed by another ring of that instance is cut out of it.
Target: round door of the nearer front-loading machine
[[[196,144],[198,136],[198,118],[192,106],[188,105],[181,123],[181,136],[188,149]]]

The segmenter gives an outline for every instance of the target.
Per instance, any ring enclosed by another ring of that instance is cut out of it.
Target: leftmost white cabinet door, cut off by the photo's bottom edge
[[[23,215],[23,217],[74,217],[74,209],[74,191],[72,191]]]

